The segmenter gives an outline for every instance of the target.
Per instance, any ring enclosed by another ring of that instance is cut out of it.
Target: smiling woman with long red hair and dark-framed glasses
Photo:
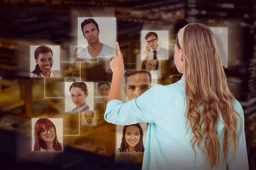
[[[58,142],[56,127],[46,118],[35,122],[34,151],[62,151],[62,144]]]

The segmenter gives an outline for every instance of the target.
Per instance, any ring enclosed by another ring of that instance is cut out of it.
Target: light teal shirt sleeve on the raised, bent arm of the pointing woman
[[[107,104],[104,119],[108,123],[116,125],[132,125],[139,122],[153,123],[154,86],[127,103],[116,99],[111,100]]]

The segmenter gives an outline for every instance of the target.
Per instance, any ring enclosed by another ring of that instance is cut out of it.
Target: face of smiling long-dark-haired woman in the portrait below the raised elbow
[[[128,126],[125,130],[125,142],[130,147],[136,147],[140,142],[140,129],[137,126]]]

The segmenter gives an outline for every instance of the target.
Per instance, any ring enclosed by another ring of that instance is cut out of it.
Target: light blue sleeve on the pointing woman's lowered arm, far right
[[[232,147],[230,146],[230,150],[228,153],[227,170],[249,170],[247,148],[246,148],[246,141],[245,141],[245,134],[244,134],[244,111],[242,107],[239,114],[241,116],[242,127],[240,127],[238,131],[238,136],[239,136],[238,149],[236,150],[236,158],[233,159],[233,150],[232,150]],[[239,122],[239,126],[240,126],[240,122]]]

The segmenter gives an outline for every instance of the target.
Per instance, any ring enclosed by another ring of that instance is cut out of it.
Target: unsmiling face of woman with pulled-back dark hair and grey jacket
[[[71,94],[71,99],[73,101],[73,103],[76,105],[76,107],[80,107],[81,105],[84,105],[84,103],[86,102],[86,97],[88,96],[88,91],[86,92],[86,94],[84,94],[84,91],[82,91],[81,88],[71,88],[70,90],[70,94]]]

